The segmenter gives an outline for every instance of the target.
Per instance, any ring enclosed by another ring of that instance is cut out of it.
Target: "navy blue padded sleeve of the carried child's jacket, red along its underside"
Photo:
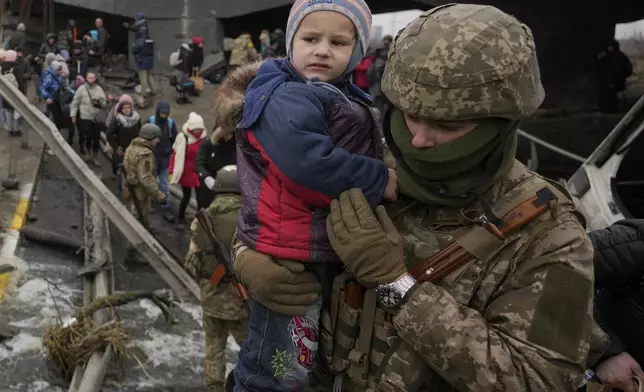
[[[362,189],[373,207],[382,201],[389,178],[385,163],[335,148],[323,104],[309,90],[276,91],[247,136],[268,170],[307,203],[328,207],[351,188]]]

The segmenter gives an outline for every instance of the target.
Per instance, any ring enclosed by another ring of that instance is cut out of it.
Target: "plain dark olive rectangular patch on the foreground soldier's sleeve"
[[[593,282],[562,264],[550,267],[528,331],[528,340],[568,358],[577,358],[588,328]]]

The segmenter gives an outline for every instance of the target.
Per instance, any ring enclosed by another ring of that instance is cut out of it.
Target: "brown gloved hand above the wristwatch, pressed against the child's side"
[[[400,234],[385,207],[373,214],[360,189],[331,202],[326,220],[331,246],[356,279],[367,288],[392,283],[407,272]]]

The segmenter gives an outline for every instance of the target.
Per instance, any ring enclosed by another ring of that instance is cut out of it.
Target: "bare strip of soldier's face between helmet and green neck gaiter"
[[[412,135],[411,144],[416,148],[432,148],[460,139],[477,125],[473,122],[436,122],[407,113],[405,123]]]

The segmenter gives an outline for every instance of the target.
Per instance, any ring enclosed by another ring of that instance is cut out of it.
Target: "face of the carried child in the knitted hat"
[[[312,12],[295,33],[292,61],[307,79],[330,82],[345,73],[355,44],[349,18],[334,11]]]

